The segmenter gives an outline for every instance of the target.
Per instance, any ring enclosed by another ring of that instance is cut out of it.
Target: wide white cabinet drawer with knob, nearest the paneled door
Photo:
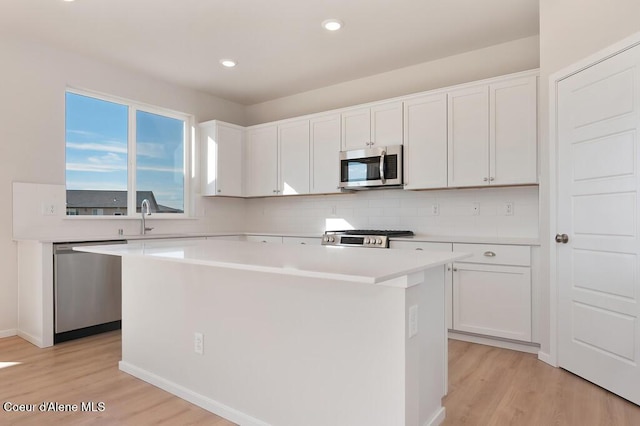
[[[531,247],[503,244],[453,244],[453,251],[471,253],[462,259],[465,263],[486,263],[490,265],[531,265]]]

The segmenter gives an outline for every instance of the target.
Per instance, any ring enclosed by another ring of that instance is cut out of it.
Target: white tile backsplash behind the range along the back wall
[[[538,237],[538,187],[372,190],[247,200],[250,232],[409,229],[434,236]]]

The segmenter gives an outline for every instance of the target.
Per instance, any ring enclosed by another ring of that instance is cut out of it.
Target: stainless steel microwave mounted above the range
[[[340,188],[402,186],[402,145],[340,152]]]

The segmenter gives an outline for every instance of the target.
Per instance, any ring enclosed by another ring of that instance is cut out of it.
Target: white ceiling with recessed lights
[[[0,0],[12,34],[252,105],[538,34],[538,0]],[[344,21],[330,33],[320,23]],[[223,68],[222,58],[238,62]]]

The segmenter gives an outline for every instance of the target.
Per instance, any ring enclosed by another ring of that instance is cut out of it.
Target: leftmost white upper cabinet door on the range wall
[[[276,195],[278,190],[278,128],[247,131],[247,195]]]

